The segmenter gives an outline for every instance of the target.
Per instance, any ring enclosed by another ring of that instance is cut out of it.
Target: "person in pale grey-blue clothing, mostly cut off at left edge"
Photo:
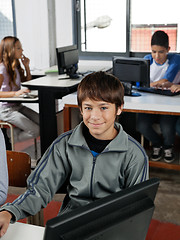
[[[5,203],[8,192],[8,169],[4,136],[0,129],[0,206]]]

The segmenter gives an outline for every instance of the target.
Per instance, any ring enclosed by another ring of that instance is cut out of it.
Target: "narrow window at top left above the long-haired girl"
[[[0,40],[5,36],[14,35],[13,25],[13,2],[12,0],[1,0],[0,4]]]

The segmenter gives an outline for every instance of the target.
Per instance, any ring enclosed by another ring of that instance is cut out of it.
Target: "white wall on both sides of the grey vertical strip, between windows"
[[[15,0],[17,37],[24,54],[30,58],[32,70],[46,69],[49,61],[48,4],[53,0]],[[56,3],[56,45],[72,43],[72,0],[54,0]],[[51,16],[52,17],[52,16]],[[56,47],[56,46],[54,46]]]

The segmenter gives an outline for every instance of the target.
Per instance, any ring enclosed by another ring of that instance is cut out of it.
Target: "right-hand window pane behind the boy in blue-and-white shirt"
[[[163,30],[169,36],[170,51],[179,52],[178,4],[179,0],[171,0],[168,4],[164,0],[131,0],[130,51],[149,52],[152,34]]]

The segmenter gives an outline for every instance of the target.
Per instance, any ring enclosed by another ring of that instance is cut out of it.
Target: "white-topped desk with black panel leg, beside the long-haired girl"
[[[81,78],[73,80],[65,76],[59,80],[57,74],[50,74],[22,83],[24,87],[38,90],[41,154],[57,137],[56,99],[75,92],[80,81]]]

